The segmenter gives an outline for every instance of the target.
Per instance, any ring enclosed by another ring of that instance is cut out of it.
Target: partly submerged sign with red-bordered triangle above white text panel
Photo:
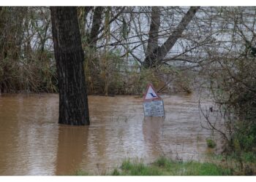
[[[143,96],[144,116],[165,116],[164,101],[157,94],[152,84],[148,84]]]

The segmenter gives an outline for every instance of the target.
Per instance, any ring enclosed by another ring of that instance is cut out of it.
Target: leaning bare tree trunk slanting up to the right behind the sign
[[[176,43],[176,41],[181,37],[181,34],[186,29],[189,22],[195,16],[195,13],[200,7],[190,7],[186,15],[182,18],[181,22],[178,24],[177,28],[173,31],[172,34],[168,37],[164,44],[161,47],[157,47],[154,49],[151,54],[146,55],[145,60],[143,61],[143,66],[145,68],[157,66],[157,64],[161,63],[162,59],[165,58],[167,53]],[[149,42],[151,40],[148,40]]]

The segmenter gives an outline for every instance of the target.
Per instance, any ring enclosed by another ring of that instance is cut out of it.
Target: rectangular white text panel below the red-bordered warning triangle
[[[152,100],[143,103],[145,116],[165,116],[163,100]]]

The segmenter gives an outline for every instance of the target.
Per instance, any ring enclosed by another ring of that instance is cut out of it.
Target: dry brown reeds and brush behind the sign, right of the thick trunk
[[[192,71],[180,71],[173,66],[142,68],[135,60],[122,58],[117,49],[97,52],[87,48],[86,52],[84,68],[87,92],[91,95],[140,95],[148,82],[157,90],[166,91],[164,81],[172,82],[176,91],[192,92]]]

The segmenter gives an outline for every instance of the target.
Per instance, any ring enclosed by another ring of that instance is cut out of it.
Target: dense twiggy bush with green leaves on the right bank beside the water
[[[208,126],[213,132],[220,132],[225,138],[225,158],[232,159],[238,174],[252,174],[255,171],[256,154],[256,100],[255,100],[255,55],[241,52],[239,58],[220,61],[222,69],[211,75],[211,92],[217,103],[222,119],[219,126],[205,114]],[[218,74],[217,74],[218,72]],[[245,87],[246,86],[246,87]],[[217,120],[216,120],[217,121]],[[214,148],[214,141],[206,140],[208,147]]]

